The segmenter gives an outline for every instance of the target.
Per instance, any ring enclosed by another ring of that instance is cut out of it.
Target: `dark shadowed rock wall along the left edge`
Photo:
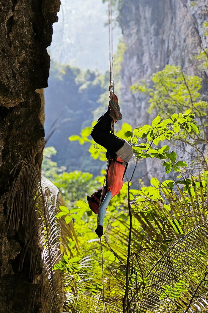
[[[44,113],[36,89],[47,87],[52,24],[60,0],[0,2],[0,311],[29,312],[35,285],[26,264],[18,272],[24,232],[4,233],[7,196],[18,175],[10,174],[28,148],[38,157],[44,146]],[[34,296],[33,296],[34,297]],[[34,312],[38,303],[34,302]]]

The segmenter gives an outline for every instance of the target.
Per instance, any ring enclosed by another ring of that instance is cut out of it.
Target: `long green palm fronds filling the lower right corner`
[[[132,229],[126,312],[201,312],[208,302],[207,194],[196,187],[161,188],[161,200],[132,205],[141,225]]]

